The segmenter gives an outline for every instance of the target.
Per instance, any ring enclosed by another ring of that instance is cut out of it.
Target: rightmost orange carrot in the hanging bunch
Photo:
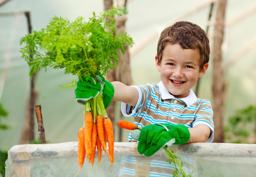
[[[104,118],[104,128],[107,134],[108,140],[108,152],[110,156],[111,165],[113,165],[114,161],[114,133],[113,133],[113,125],[110,118]]]

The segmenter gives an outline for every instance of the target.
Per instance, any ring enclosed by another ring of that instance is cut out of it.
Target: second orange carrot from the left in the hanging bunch
[[[91,112],[84,111],[84,146],[86,150],[86,157],[89,160],[92,157],[92,130],[93,130],[93,115]]]

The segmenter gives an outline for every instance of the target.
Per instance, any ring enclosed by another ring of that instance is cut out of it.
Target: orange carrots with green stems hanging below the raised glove
[[[108,155],[112,166],[114,161],[113,125],[105,111],[101,94],[86,101],[85,104],[84,124],[78,132],[78,163],[81,168],[77,174],[83,167],[85,156],[89,163],[92,164],[93,169],[96,148],[98,151],[98,163],[100,163],[103,149],[105,154]]]

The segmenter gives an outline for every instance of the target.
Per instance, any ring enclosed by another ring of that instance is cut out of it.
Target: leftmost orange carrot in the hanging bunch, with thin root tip
[[[84,165],[84,158],[85,158],[84,128],[81,127],[79,129],[77,136],[78,136],[77,157],[78,157],[78,163],[79,163],[79,165],[80,165],[80,167],[82,169],[82,167]],[[77,174],[81,171],[81,169],[77,172]]]

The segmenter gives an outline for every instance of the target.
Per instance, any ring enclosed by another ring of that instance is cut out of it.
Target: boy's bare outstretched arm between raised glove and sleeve
[[[113,101],[122,101],[131,106],[136,106],[139,93],[135,87],[127,86],[119,81],[111,82],[114,87]]]

